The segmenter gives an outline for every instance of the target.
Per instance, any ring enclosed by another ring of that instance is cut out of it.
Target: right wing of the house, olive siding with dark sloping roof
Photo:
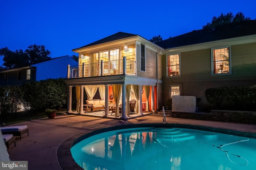
[[[157,43],[165,50],[162,98],[196,96],[208,88],[256,84],[256,20],[200,29]],[[164,103],[165,104],[165,103]]]

